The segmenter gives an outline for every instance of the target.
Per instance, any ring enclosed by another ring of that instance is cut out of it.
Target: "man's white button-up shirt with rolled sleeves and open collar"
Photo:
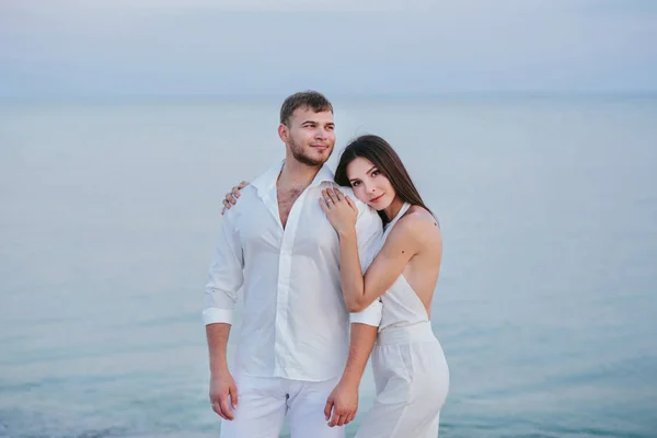
[[[349,344],[349,321],[378,326],[381,303],[348,314],[339,280],[339,240],[319,199],[336,186],[324,165],[299,196],[285,227],[276,181],[283,162],[241,191],[223,216],[205,293],[205,324],[233,322],[242,299],[235,369],[249,376],[324,381],[338,377]],[[379,215],[358,206],[356,231],[365,272],[379,250]]]

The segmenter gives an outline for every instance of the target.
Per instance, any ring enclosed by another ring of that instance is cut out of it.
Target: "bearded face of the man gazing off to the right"
[[[307,165],[322,165],[335,146],[333,113],[299,107],[292,113],[289,126],[280,125],[279,134],[295,160]]]

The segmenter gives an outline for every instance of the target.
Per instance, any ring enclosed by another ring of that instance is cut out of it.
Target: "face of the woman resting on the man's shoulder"
[[[356,197],[376,210],[387,208],[395,198],[390,180],[366,158],[358,157],[347,164],[347,177]]]

